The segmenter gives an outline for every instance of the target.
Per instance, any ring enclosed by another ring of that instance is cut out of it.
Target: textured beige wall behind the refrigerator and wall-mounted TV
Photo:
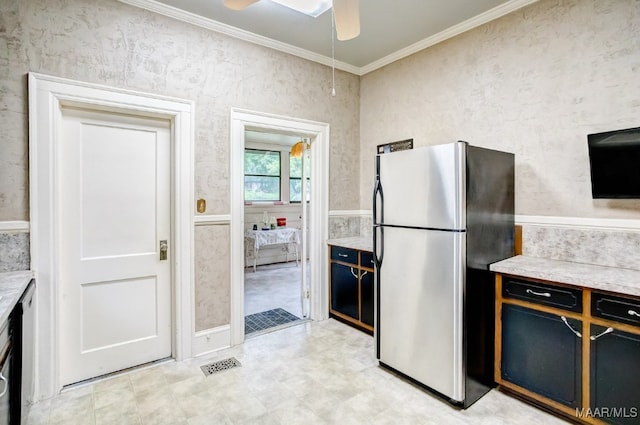
[[[516,155],[516,213],[640,218],[593,200],[589,133],[640,127],[640,1],[541,0],[361,80],[360,206],[380,143]]]

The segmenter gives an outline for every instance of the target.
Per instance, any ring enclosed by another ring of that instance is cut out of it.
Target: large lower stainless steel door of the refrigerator
[[[464,400],[464,232],[386,227],[380,268],[380,362]]]

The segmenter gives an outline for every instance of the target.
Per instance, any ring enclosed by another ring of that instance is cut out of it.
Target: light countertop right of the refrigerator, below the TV
[[[640,296],[640,270],[518,255],[490,266],[498,273]]]

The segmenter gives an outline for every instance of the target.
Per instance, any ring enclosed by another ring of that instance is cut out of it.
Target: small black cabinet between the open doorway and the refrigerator
[[[373,254],[350,241],[329,242],[329,317],[373,334]]]

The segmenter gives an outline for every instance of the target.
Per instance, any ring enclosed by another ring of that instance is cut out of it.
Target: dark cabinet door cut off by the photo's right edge
[[[597,325],[591,335],[592,411],[607,423],[639,423],[640,335]]]

